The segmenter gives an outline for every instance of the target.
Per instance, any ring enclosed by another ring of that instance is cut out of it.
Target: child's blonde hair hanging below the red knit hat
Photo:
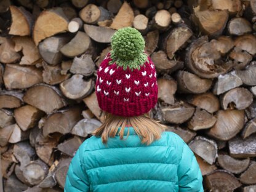
[[[141,138],[141,142],[146,143],[146,145],[150,145],[154,140],[161,138],[162,132],[166,129],[166,126],[150,118],[149,113],[132,117],[115,116],[106,111],[103,111],[103,113],[105,115],[103,124],[91,133],[96,137],[102,137],[103,143],[108,142],[108,137],[114,137],[119,127],[121,127],[119,135],[122,140],[124,138],[124,128],[127,125],[134,128],[137,135]],[[129,130],[127,137],[129,137]]]

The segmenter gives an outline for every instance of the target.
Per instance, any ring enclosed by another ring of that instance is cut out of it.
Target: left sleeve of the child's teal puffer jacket
[[[82,169],[83,144],[76,151],[74,158],[70,162],[64,192],[87,192],[90,190],[88,176],[86,171]]]

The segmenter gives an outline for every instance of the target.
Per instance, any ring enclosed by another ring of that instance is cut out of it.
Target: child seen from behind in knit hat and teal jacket
[[[95,82],[105,119],[76,151],[65,192],[204,191],[188,145],[149,116],[158,84],[142,35],[122,28],[111,37],[111,49]]]

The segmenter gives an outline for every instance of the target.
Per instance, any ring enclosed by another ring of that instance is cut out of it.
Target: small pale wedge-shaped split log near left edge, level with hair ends
[[[12,130],[12,135],[10,135],[10,138],[8,141],[9,143],[18,143],[28,139],[28,137],[30,136],[30,132],[28,131],[23,132],[22,129],[20,129],[20,127],[18,127],[17,124],[13,124],[12,126],[14,128]]]

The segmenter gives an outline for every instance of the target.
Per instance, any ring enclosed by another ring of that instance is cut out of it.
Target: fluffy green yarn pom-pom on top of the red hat
[[[131,27],[122,28],[111,37],[110,51],[111,62],[122,66],[124,70],[127,67],[130,70],[137,68],[148,60],[148,55],[144,53],[145,41],[138,30]]]

